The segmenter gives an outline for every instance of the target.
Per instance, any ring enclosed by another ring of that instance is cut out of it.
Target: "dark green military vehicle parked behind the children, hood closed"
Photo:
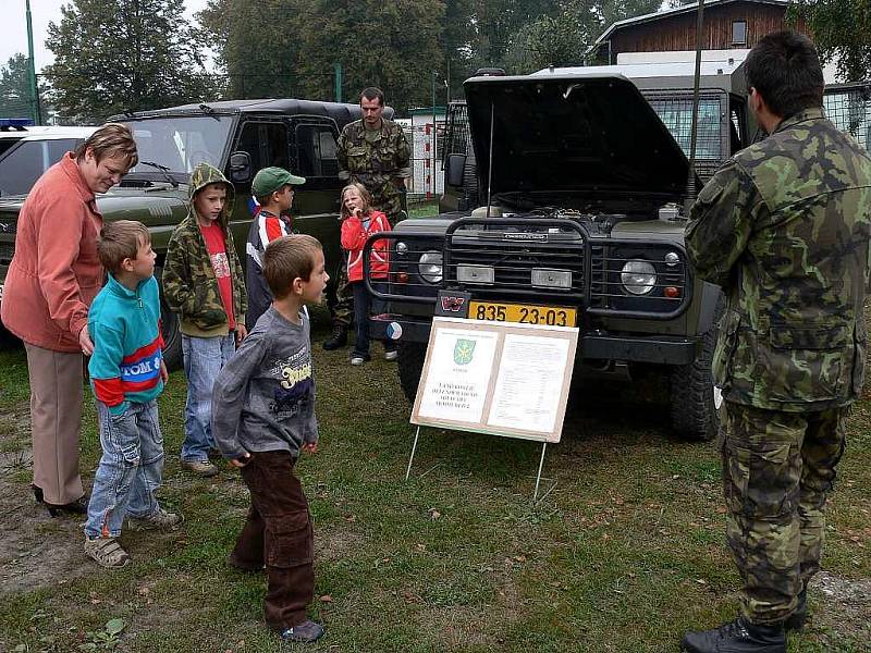
[[[393,110],[385,108],[385,115]],[[357,104],[296,99],[237,100],[185,104],[126,113],[112,121],[127,124],[139,152],[138,164],[121,185],[97,198],[106,220],[138,220],[151,232],[161,276],[167,245],[175,225],[187,214],[187,181],[197,163],[224,171],[236,189],[231,227],[240,257],[252,222],[254,174],[268,165],[290,168],[306,177],[294,196],[293,229],[317,237],[332,274],[341,264],[339,244],[339,164],[335,144],[340,130],[360,118]],[[15,248],[15,224],[23,196],[0,198],[0,300],[2,283]],[[161,305],[164,357],[181,364],[179,324]]]

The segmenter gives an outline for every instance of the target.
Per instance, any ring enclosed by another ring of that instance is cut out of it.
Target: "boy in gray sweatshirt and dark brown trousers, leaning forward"
[[[214,382],[212,434],[238,467],[252,495],[248,517],[228,562],[266,566],[267,624],[284,641],[314,642],[323,627],[306,606],[315,594],[308,500],[293,473],[300,451],[318,451],[311,341],[305,304],[323,296],[329,275],[311,236],[282,236],[263,255],[274,300]]]

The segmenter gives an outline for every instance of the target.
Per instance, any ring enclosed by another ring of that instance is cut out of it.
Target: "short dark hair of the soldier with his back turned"
[[[763,36],[747,56],[744,70],[748,88],[756,88],[782,119],[823,106],[823,70],[807,36],[788,30]]]

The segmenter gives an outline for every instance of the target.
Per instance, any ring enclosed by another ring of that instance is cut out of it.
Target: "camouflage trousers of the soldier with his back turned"
[[[847,408],[781,412],[726,402],[726,540],[752,624],[785,620],[820,569],[825,500],[844,453]]]

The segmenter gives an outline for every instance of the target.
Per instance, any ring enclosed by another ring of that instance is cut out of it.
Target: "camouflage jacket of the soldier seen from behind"
[[[819,410],[861,392],[871,267],[871,157],[819,109],[727,161],[686,243],[727,308],[714,382],[728,401]]]

